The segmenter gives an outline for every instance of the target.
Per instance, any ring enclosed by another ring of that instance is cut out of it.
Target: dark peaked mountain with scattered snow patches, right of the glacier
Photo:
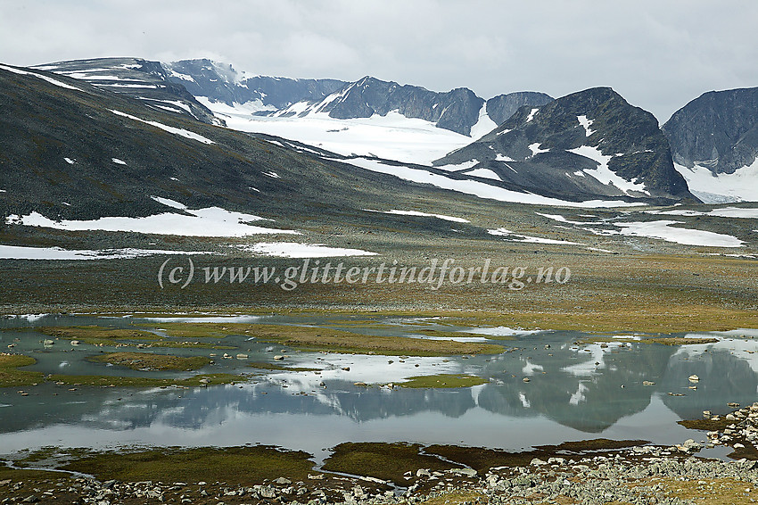
[[[609,87],[523,106],[434,165],[552,197],[692,198],[655,116]]]

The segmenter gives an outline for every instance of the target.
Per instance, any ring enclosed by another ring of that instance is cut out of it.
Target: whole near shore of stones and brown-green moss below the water
[[[696,453],[703,446],[694,440],[663,447],[597,439],[541,446],[520,453],[458,446],[421,448],[398,443],[343,443],[335,448],[333,457],[339,457],[342,464],[344,461],[355,462],[361,460],[358,455],[364,451],[369,456],[368,459],[363,459],[363,467],[342,467],[339,471],[329,471],[327,463],[323,468],[297,473],[297,467],[272,461],[276,457],[297,459],[305,461],[305,468],[310,468],[312,461],[304,459],[308,456],[305,453],[280,451],[268,446],[237,450],[211,449],[203,452],[198,460],[197,467],[203,473],[195,473],[194,476],[224,475],[229,477],[227,482],[205,482],[196,478],[190,479],[194,482],[105,480],[75,471],[54,473],[29,466],[9,467],[0,468],[0,503],[753,503],[758,499],[758,452],[755,449],[755,443],[758,443],[758,402],[741,409],[736,403],[730,405],[736,409],[725,416],[713,416],[705,410],[703,419],[680,421],[688,427],[710,430],[707,434],[708,447],[724,445],[734,450],[731,457],[740,458],[729,461],[697,457]],[[254,459],[241,463],[243,459],[234,459],[240,451],[267,456],[257,463],[252,463]],[[407,454],[408,451],[416,454],[416,463],[402,458],[402,454]],[[163,470],[173,470],[172,475],[184,475],[183,470],[177,472],[177,469],[191,459],[192,453],[193,451],[157,452],[147,456],[149,452],[138,452],[131,456],[130,466],[136,468],[141,462],[152,458],[153,461],[158,461],[159,467],[164,467]],[[442,454],[445,453],[455,455],[450,457],[457,460],[444,457]],[[492,458],[493,454],[502,458],[500,463],[506,464],[493,464],[496,459],[487,459]],[[214,455],[220,455],[220,459],[211,459]],[[538,457],[533,457],[535,455]],[[97,458],[101,459],[95,459],[97,462],[91,463],[88,471],[94,474],[106,472],[108,470],[104,467],[120,457],[119,453],[99,455]],[[466,458],[468,463],[462,463],[464,459],[461,458]],[[284,460],[286,459],[282,459]],[[378,466],[377,460],[380,461]],[[22,461],[19,459],[16,462],[21,464]],[[434,465],[433,468],[428,468],[430,463]],[[290,478],[263,478],[263,474],[260,474],[263,467],[270,467],[269,471],[279,475],[287,475],[285,468],[289,468]],[[185,471],[190,471],[189,468],[193,467],[185,468],[188,468]],[[412,469],[403,473],[406,468]],[[219,470],[221,474],[218,474]],[[394,476],[391,480],[383,480],[374,476],[346,473],[347,471],[362,471],[365,474],[389,471],[389,475]],[[251,484],[251,476],[254,475],[259,475],[256,479],[260,484]],[[236,479],[237,483],[233,483],[232,479]],[[242,482],[245,484],[239,484]]]

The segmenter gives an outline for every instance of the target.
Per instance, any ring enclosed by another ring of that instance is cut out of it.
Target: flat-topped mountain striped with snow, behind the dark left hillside
[[[182,85],[169,80],[159,62],[141,58],[95,58],[47,63],[33,67],[142,100],[153,108],[174,112],[209,124],[223,124]]]

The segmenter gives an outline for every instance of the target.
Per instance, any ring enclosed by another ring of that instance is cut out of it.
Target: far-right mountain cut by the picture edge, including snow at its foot
[[[663,133],[704,202],[758,200],[758,87],[705,93],[674,112]]]

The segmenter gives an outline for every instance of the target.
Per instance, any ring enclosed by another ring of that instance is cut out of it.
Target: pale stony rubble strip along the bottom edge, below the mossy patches
[[[7,478],[0,503],[751,503],[758,493],[758,463],[693,456],[658,457],[633,448],[626,455],[569,460],[533,459],[523,467],[430,471],[406,478],[414,484],[389,488],[366,477],[279,477],[259,485],[224,483],[100,482],[84,477]],[[655,453],[655,451],[653,451]],[[320,478],[317,478],[320,477]]]

